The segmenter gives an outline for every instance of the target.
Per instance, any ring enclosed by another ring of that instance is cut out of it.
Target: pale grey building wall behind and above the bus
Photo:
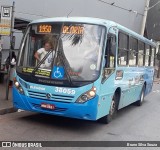
[[[103,0],[104,2],[137,11],[143,14],[145,0]],[[0,0],[0,5],[12,5],[13,0]],[[120,8],[102,3],[99,0],[15,0],[15,16],[29,20],[57,16],[99,17],[113,20],[126,26],[137,33],[140,33],[142,15],[137,15],[133,11],[128,12]],[[19,37],[21,39],[21,36]],[[16,38],[18,42],[18,38]],[[7,44],[5,40],[5,45]],[[7,46],[6,46],[7,47]],[[19,47],[16,43],[16,47]]]

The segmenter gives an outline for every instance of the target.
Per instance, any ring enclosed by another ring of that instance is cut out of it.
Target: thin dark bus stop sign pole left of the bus
[[[10,62],[11,62],[11,54],[12,54],[12,40],[13,40],[13,29],[14,29],[14,12],[15,12],[15,2],[13,1],[12,5],[12,17],[11,17],[11,33],[10,33],[10,49],[9,49],[9,56],[10,56]],[[10,81],[10,68],[11,66],[9,65],[8,69],[8,79],[7,79],[7,86],[6,86],[6,100],[8,100],[9,96],[9,81]]]

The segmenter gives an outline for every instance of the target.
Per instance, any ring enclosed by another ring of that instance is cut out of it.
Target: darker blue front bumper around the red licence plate
[[[41,104],[49,104],[55,106],[54,109],[44,109]],[[97,120],[98,96],[94,97],[83,104],[64,103],[50,100],[31,98],[20,94],[13,87],[13,105],[17,109],[58,115],[70,118]]]

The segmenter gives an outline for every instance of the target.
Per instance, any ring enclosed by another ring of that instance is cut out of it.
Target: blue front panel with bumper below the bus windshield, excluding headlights
[[[17,91],[17,89],[13,87],[14,107],[23,110],[47,113],[52,115],[60,115],[64,117],[96,120],[98,111],[98,99],[99,99],[98,95],[96,95],[93,99],[83,104],[75,102],[82,93],[87,92],[89,89],[91,89],[92,84],[81,88],[72,88],[76,91],[76,94],[74,96],[68,96],[67,94],[54,93],[56,88],[54,86],[51,87],[51,86],[37,85],[33,83],[27,83],[22,79],[19,80],[20,83],[22,83],[21,86],[25,91],[25,95],[20,94]],[[53,98],[51,97],[51,99],[47,99],[46,98],[47,93],[53,94],[54,97]],[[55,106],[55,109],[49,110],[41,108],[42,103],[52,104]]]

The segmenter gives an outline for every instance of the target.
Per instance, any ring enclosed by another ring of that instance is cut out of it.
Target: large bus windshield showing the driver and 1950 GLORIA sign
[[[105,27],[99,25],[32,24],[24,36],[17,68],[53,80],[94,81],[100,74],[104,35]]]

